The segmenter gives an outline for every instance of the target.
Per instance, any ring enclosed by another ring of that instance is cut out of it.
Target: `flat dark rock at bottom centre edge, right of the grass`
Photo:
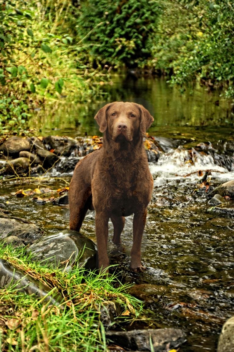
[[[184,333],[174,328],[109,331],[106,333],[106,338],[132,351],[151,351],[151,338],[154,352],[167,352],[186,341]]]

